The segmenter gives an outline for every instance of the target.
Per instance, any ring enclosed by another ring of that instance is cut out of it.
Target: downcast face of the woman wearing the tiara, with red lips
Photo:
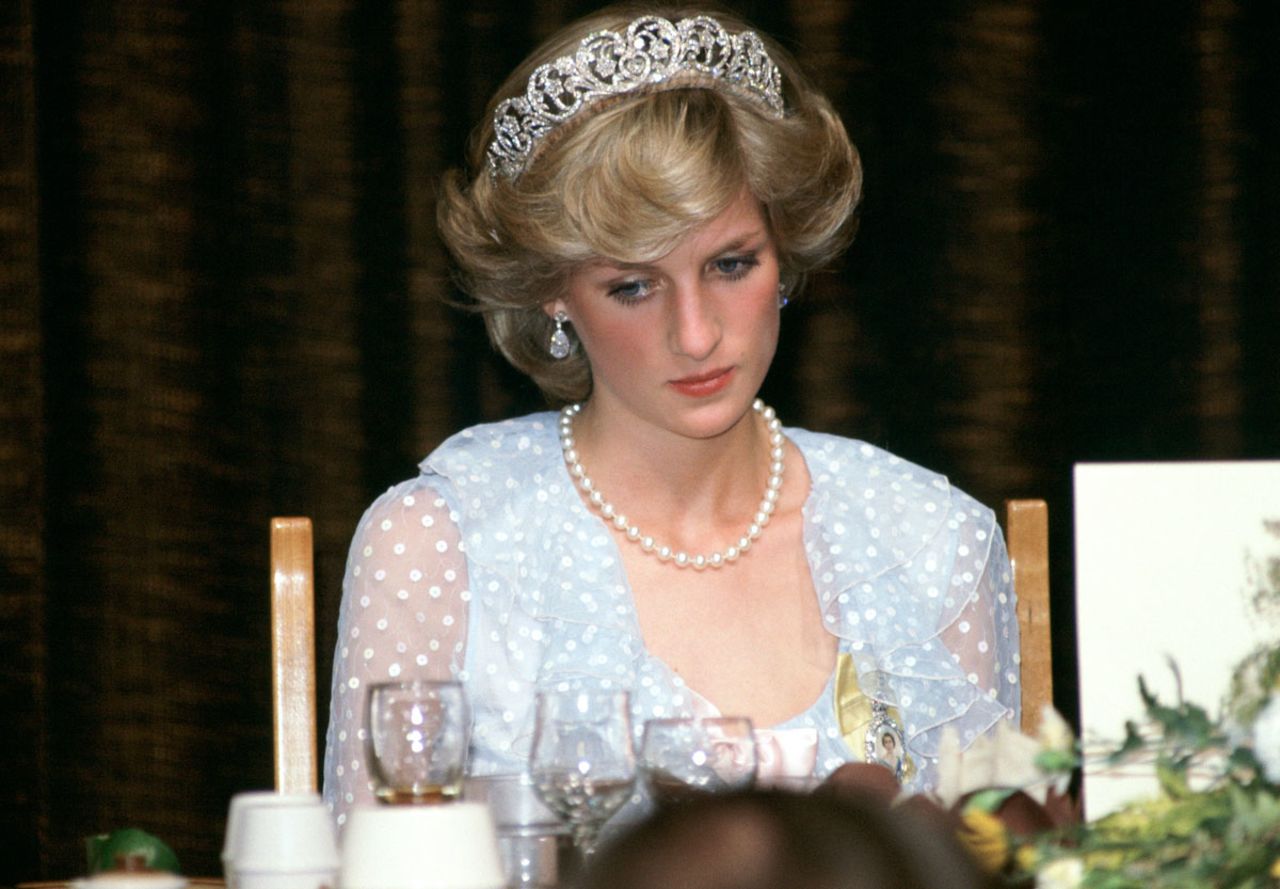
[[[589,262],[563,310],[591,362],[590,411],[710,437],[749,409],[778,340],[778,258],[746,191],[673,251]]]

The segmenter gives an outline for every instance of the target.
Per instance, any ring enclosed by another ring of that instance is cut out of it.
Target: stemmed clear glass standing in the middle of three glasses
[[[631,797],[636,764],[627,692],[539,692],[529,774],[584,856]]]

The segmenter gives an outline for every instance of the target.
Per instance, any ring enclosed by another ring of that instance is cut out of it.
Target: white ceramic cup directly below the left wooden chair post
[[[228,889],[333,886],[338,847],[329,810],[316,794],[239,794],[223,867]]]

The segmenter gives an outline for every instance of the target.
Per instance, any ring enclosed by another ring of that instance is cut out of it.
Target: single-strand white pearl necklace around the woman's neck
[[[760,499],[760,505],[756,507],[755,515],[751,518],[751,523],[746,527],[742,536],[732,546],[727,546],[724,550],[712,553],[710,555],[700,553],[689,555],[684,550],[672,550],[669,546],[659,544],[652,536],[630,523],[626,515],[604,499],[604,495],[595,487],[591,477],[586,475],[582,462],[577,458],[577,448],[573,441],[573,417],[581,412],[581,403],[570,404],[561,411],[559,434],[561,448],[564,452],[564,463],[568,466],[568,473],[573,478],[573,482],[586,494],[586,499],[591,507],[608,522],[612,522],[614,528],[625,532],[626,539],[632,544],[637,544],[643,551],[655,555],[660,562],[669,562],[677,568],[692,568],[695,570],[723,568],[732,562],[737,562],[739,556],[751,549],[751,544],[760,539],[760,535],[764,533],[764,527],[769,523],[769,517],[777,509],[778,495],[782,491],[782,469],[786,458],[786,439],[782,435],[782,421],[778,420],[773,408],[765,407],[760,399],[755,399],[751,407],[764,417],[764,422],[769,430],[769,481],[764,486],[764,496]]]

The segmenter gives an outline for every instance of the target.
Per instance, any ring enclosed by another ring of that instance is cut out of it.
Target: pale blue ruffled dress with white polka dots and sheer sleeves
[[[785,434],[812,480],[804,542],[826,625],[905,739],[909,784],[928,789],[943,727],[968,746],[1018,719],[1018,620],[1000,527],[943,476],[884,450]],[[371,798],[362,711],[372,682],[462,679],[474,774],[524,769],[538,688],[630,689],[636,727],[707,712],[646,651],[617,539],[570,480],[557,414],[465,430],[420,468],[370,507],[347,563],[324,765],[339,826]],[[836,684],[833,673],[809,709],[773,727],[817,736],[817,776],[873,753],[842,730]]]

